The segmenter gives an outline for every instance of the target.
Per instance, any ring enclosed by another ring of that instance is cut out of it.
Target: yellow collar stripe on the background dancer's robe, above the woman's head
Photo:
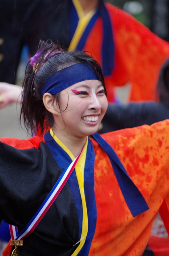
[[[85,28],[87,27],[89,21],[91,20],[92,16],[96,12],[95,10],[92,10],[92,11],[88,12],[87,14],[85,14],[80,2],[78,0],[72,0],[72,1],[76,8],[77,15],[79,17],[79,21],[77,24],[75,34],[73,35],[73,38],[70,42],[68,51],[71,51],[76,48],[83,32],[85,31]]]

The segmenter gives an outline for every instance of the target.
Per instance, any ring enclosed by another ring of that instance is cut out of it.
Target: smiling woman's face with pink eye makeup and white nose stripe
[[[85,80],[60,92],[60,110],[56,106],[55,134],[85,137],[98,131],[107,110],[107,98],[99,80]]]

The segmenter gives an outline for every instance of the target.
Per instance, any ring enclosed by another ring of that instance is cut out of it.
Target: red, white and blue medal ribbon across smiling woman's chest
[[[75,165],[77,164],[77,161],[79,157],[81,156],[83,149],[81,150],[80,154],[72,161],[70,166],[65,169],[65,171],[62,173],[62,175],[59,177],[57,182],[55,183],[55,186],[52,188],[44,202],[41,204],[38,211],[34,214],[33,218],[29,221],[26,228],[22,230],[22,232],[18,235],[18,230],[15,226],[10,226],[10,233],[11,233],[11,239],[12,240],[23,240],[26,236],[29,236],[33,230],[36,228],[40,220],[43,218],[45,213],[48,211],[50,206],[55,201],[56,197],[61,192],[62,188],[64,187],[66,181],[69,179],[70,174],[72,173],[73,169],[75,168]]]

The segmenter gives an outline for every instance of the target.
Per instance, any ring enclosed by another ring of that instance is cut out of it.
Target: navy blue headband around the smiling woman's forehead
[[[68,88],[70,85],[90,79],[99,80],[90,64],[86,62],[77,63],[49,76],[42,86],[41,93],[42,96],[45,92],[53,95]]]

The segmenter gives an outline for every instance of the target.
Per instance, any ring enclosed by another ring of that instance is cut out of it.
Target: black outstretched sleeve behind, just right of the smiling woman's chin
[[[109,104],[102,120],[100,133],[132,128],[169,118],[169,107],[158,102]]]

